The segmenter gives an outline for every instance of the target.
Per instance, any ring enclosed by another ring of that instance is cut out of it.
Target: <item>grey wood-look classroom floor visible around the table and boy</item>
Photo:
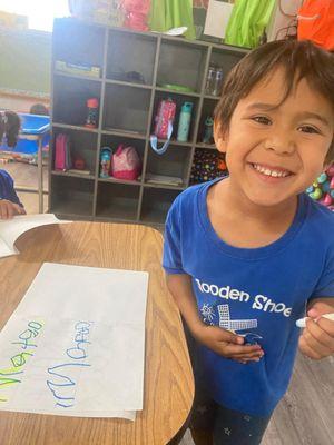
[[[16,186],[37,188],[37,167],[22,162],[0,164]],[[45,189],[48,171],[43,167]],[[28,214],[38,211],[38,195],[19,192]],[[45,211],[48,207],[45,196]],[[279,403],[262,445],[332,445],[334,437],[334,357],[313,362],[301,354],[289,389]],[[181,445],[193,445],[187,431]]]

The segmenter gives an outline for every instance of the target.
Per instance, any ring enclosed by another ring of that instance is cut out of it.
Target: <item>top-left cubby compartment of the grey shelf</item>
[[[89,26],[88,23],[73,20],[55,20],[53,24],[53,60],[57,71],[57,61],[82,67],[89,75],[89,68],[96,67],[102,76],[105,29],[101,27]],[[96,71],[97,71],[96,70]],[[77,71],[73,71],[77,72]]]

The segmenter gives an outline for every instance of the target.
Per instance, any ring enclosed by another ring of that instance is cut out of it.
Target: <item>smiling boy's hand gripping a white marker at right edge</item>
[[[330,313],[333,313],[333,306],[324,301],[315,303],[307,312],[311,318],[306,320],[306,327],[299,337],[299,349],[314,360],[334,354],[334,322],[321,317]]]

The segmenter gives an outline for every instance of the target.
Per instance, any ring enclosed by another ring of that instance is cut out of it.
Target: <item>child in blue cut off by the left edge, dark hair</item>
[[[12,111],[0,111],[0,144],[3,136],[8,147],[14,147],[20,129],[20,118]],[[0,170],[0,219],[10,219],[14,215],[24,215],[26,210],[20,202],[11,176]]]

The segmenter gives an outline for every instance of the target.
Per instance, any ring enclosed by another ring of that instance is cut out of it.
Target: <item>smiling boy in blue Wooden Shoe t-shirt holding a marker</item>
[[[259,444],[298,343],[313,359],[334,352],[321,317],[334,312],[334,214],[304,194],[334,158],[333,86],[334,55],[310,41],[247,55],[215,111],[229,177],[169,210],[164,268],[195,338],[196,444]]]

